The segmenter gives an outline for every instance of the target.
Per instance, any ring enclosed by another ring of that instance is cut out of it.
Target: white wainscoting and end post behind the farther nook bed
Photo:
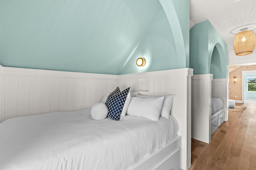
[[[214,78],[212,80],[212,97],[223,100],[225,108],[224,121],[228,121],[228,78]]]

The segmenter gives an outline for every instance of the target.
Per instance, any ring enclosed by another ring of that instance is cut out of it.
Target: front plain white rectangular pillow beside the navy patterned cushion
[[[164,96],[160,98],[131,97],[126,114],[158,121],[163,106]]]

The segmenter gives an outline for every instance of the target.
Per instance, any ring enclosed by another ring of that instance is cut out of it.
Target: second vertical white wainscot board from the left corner
[[[29,115],[29,77],[18,76],[17,83],[17,116],[27,116]]]

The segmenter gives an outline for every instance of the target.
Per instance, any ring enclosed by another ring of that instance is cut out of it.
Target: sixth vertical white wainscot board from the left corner
[[[58,103],[58,107],[59,107],[59,111],[67,111],[67,78],[58,78],[58,94],[59,94],[59,103]]]

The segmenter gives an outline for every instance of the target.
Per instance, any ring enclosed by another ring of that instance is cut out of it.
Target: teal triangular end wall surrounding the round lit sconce
[[[120,74],[186,68],[189,60],[186,53],[189,51],[189,1],[160,0],[160,3],[163,10],[134,48]],[[187,7],[184,10],[186,12],[180,11],[182,5],[183,9]],[[146,60],[145,66],[136,66],[136,59],[139,57]]]

